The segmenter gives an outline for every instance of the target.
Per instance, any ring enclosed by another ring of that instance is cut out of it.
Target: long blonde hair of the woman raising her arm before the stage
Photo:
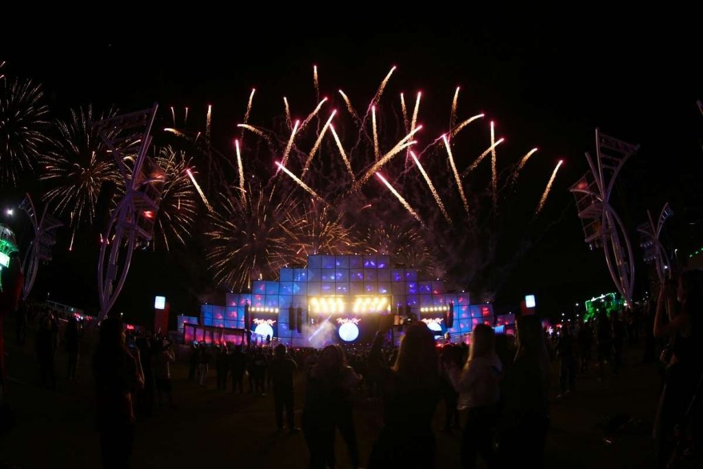
[[[419,387],[436,385],[439,376],[437,349],[434,347],[434,335],[425,323],[414,323],[408,327],[393,369],[401,378],[413,381]]]

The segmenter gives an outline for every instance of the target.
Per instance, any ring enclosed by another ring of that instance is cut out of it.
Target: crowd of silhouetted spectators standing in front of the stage
[[[265,347],[192,344],[186,358],[188,378],[207,387],[212,383],[208,377],[214,375],[221,392],[271,395],[272,423],[279,432],[302,430],[309,468],[335,467],[337,431],[353,467],[432,467],[432,420],[440,402],[442,430],[461,431],[463,467],[476,467],[479,460],[488,467],[541,467],[550,425],[550,371],[557,371],[558,398],[567,399],[593,366],[596,380],[617,375],[624,366],[625,347],[643,337],[644,361],[651,360],[657,340],[666,345],[660,357],[666,373],[653,432],[657,463],[666,467],[700,448],[702,308],[703,276],[690,271],[663,285],[657,302],[610,316],[599,311],[592,321],[562,323],[551,335],[536,316],[523,316],[517,319],[515,338],[479,324],[470,346],[438,347],[430,330],[416,323],[406,328],[400,346],[392,347],[393,318],[387,316],[370,349],[287,349],[270,342]],[[39,383],[56,386],[59,347],[66,352],[65,377],[75,380],[85,329],[79,317],[61,316],[34,302],[20,302],[16,317],[18,347],[25,345],[27,326],[36,328]],[[138,416],[150,415],[155,402],[175,406],[175,345],[148,332],[135,336],[119,319],[107,319],[91,352],[103,465],[126,467]],[[294,391],[301,380],[298,428]],[[382,428],[368,459],[362,460],[354,413],[368,401],[382,403]]]

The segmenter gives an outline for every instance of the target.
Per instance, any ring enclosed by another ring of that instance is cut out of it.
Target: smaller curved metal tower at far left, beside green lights
[[[37,219],[37,210],[34,208],[32,197],[28,193],[25,195],[25,200],[22,200],[20,209],[25,211],[27,217],[30,217],[32,228],[34,229],[34,239],[27,252],[25,252],[25,258],[22,259],[22,270],[25,272],[25,286],[22,288],[22,298],[26,299],[32,291],[34,280],[37,278],[39,264],[51,260],[51,249],[56,244],[56,229],[63,226],[63,223],[47,213],[49,210],[47,205],[44,205],[44,212],[41,213],[41,218]]]

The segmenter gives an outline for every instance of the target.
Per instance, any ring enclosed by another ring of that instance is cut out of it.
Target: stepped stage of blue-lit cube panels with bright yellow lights
[[[417,269],[394,266],[387,255],[311,255],[307,266],[280,269],[278,277],[253,281],[251,293],[228,293],[224,306],[203,304],[200,325],[251,330],[252,342],[270,334],[286,345],[321,347],[372,342],[385,314],[423,321],[438,339],[495,322],[491,304],[470,304],[468,293],[418,280]]]

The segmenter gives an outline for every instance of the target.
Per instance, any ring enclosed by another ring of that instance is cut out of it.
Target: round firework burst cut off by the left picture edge
[[[0,184],[17,183],[20,172],[31,170],[39,147],[49,141],[45,129],[49,108],[39,85],[3,79],[0,88]]]

